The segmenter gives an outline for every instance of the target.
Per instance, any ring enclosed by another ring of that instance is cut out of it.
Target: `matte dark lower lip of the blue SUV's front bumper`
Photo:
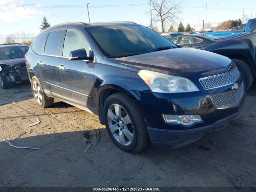
[[[240,104],[240,110],[244,105],[245,97]],[[226,128],[228,123],[238,116],[240,110],[226,118],[218,120],[211,125],[185,130],[166,130],[147,127],[152,146],[160,149],[174,149],[199,140],[206,132],[217,131]]]

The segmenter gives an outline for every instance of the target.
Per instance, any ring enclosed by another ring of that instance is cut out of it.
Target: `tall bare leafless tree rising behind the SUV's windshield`
[[[161,31],[164,33],[164,23],[176,24],[174,21],[181,12],[179,1],[174,0],[150,0],[152,10],[155,12],[154,21],[161,22]]]

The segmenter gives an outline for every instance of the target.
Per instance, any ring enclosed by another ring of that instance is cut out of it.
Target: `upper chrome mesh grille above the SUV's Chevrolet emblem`
[[[212,89],[212,88],[232,84],[236,82],[236,80],[238,80],[239,76],[240,76],[240,73],[238,69],[234,67],[229,72],[201,78],[200,82],[204,86],[204,88],[207,90],[207,89]]]

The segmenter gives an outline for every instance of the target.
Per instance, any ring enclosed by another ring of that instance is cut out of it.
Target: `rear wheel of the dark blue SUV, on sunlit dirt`
[[[31,79],[31,88],[34,98],[39,106],[46,108],[53,104],[54,98],[46,96],[44,90],[36,76]]]

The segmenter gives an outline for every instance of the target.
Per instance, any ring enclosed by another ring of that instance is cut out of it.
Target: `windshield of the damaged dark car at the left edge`
[[[27,46],[8,46],[0,48],[0,59],[15,59],[24,57],[28,52]]]

